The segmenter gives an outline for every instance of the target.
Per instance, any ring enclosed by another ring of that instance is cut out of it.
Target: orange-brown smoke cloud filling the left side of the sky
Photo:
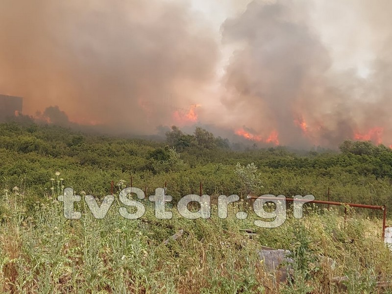
[[[189,6],[2,0],[0,92],[25,97],[25,113],[56,105],[76,123],[151,133],[215,73],[217,44]]]

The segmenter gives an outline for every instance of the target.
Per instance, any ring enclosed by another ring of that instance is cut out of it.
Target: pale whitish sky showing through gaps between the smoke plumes
[[[212,29],[220,39],[222,23],[227,18],[243,13],[251,1],[192,0],[192,8],[202,13],[211,22]],[[261,0],[260,2],[276,1]],[[357,3],[355,3],[356,0],[314,0],[312,2],[309,12],[311,22],[324,44],[329,47],[334,66],[339,70],[353,68],[360,76],[366,77],[369,73],[369,63],[375,57],[371,44],[376,36],[372,33],[371,27],[363,23],[363,17],[359,14]],[[371,3],[370,0],[368,2]],[[224,59],[232,53],[230,49],[222,48],[222,50],[225,54]]]

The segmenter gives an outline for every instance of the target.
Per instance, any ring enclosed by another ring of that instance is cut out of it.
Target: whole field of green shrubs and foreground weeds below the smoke
[[[231,145],[201,128],[187,135],[173,127],[166,140],[148,141],[4,123],[0,175],[2,293],[389,293],[381,212],[348,209],[345,216],[343,207],[307,204],[297,220],[290,206],[284,224],[270,229],[254,224],[246,199],[325,200],[329,189],[333,201],[392,207],[392,151],[382,145],[293,151]],[[124,219],[119,193],[131,179],[147,196],[166,183],[173,218],[157,220],[143,200],[143,217]],[[200,183],[212,198],[211,218],[184,219],[176,203],[199,194]],[[113,205],[97,220],[82,199],[75,204],[82,217],[67,220],[58,201],[66,187],[98,199],[112,189]],[[218,196],[232,194],[244,200],[221,219]],[[248,218],[238,220],[238,211]],[[258,258],[262,246],[292,251],[292,278],[277,282]]]

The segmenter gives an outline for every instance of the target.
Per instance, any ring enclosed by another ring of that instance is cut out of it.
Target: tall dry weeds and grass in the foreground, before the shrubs
[[[33,204],[18,189],[0,199],[1,293],[376,293],[376,281],[392,280],[391,252],[381,221],[338,210],[307,208],[305,217],[279,228],[236,220],[156,220],[151,207],[141,220],[123,219],[119,203],[96,220],[83,200],[80,220],[66,220],[52,195]],[[33,206],[33,207],[31,207]],[[241,228],[253,228],[253,240]],[[180,229],[184,235],[163,241]],[[292,276],[279,284],[258,260],[261,246],[292,251]],[[347,277],[342,285],[335,277]],[[385,290],[385,289],[384,289]],[[385,290],[387,291],[387,290]]]

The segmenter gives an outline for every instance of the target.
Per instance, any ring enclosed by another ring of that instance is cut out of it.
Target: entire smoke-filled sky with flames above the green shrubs
[[[0,93],[111,133],[392,146],[392,1],[2,0]],[[4,46],[5,45],[5,46]]]

